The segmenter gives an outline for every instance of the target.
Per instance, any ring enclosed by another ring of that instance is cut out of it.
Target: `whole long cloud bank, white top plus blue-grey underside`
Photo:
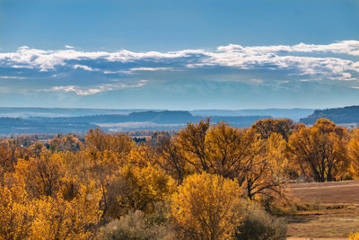
[[[354,89],[359,85],[359,40],[343,40],[328,45],[229,44],[212,50],[168,52],[82,51],[69,45],[65,47],[43,50],[24,46],[15,52],[0,53],[0,67],[4,73],[0,73],[0,80],[22,81],[20,84],[26,85],[27,78],[41,79],[38,84],[32,84],[33,89],[80,96],[140,88],[151,84],[151,79],[143,79],[155,73],[163,73],[162,77],[167,81],[175,81],[171,76],[179,73],[216,69],[221,69],[223,75],[231,71],[244,71],[246,75],[258,71],[267,74],[280,72],[283,82],[350,81],[354,84],[349,87]],[[256,79],[253,82],[256,84],[271,84],[272,81],[265,75],[262,79],[258,76],[249,79]],[[9,84],[7,87],[12,86]]]

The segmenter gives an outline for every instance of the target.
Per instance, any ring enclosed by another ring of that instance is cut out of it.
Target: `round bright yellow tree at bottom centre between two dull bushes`
[[[232,239],[244,219],[240,186],[220,175],[189,175],[171,202],[171,214],[183,238]]]

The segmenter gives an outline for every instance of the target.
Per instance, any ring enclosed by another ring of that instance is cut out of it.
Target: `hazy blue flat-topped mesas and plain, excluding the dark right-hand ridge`
[[[29,112],[29,111],[26,111]],[[250,127],[257,120],[270,116],[210,116],[213,123],[228,122],[236,128]],[[127,114],[99,114],[76,117],[28,117],[0,118],[0,134],[31,133],[84,133],[88,129],[101,128],[107,131],[136,129],[172,130],[180,129],[188,122],[203,120],[204,116],[193,116],[188,111],[138,111]]]

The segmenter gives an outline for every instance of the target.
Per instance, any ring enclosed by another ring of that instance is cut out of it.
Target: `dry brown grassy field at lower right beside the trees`
[[[288,191],[307,207],[286,217],[288,239],[347,239],[359,231],[359,181],[293,183]]]

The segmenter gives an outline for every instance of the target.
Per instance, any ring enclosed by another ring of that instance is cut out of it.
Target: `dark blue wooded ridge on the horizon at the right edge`
[[[308,117],[302,118],[300,121],[304,124],[314,124],[314,122],[320,118],[332,120],[337,124],[358,123],[359,106],[316,110]]]

